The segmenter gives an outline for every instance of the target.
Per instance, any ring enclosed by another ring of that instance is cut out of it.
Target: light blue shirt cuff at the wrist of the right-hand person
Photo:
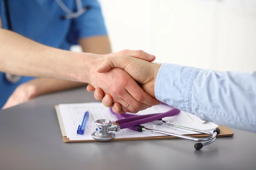
[[[164,63],[155,82],[156,98],[181,111],[191,112],[191,89],[200,69]]]

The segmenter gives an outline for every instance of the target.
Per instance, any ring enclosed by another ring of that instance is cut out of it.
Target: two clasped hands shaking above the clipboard
[[[87,91],[116,113],[137,113],[159,105],[154,87],[161,64],[154,55],[123,50],[95,59],[96,70],[89,75]]]

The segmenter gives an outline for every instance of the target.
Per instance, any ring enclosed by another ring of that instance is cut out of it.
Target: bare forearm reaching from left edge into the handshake
[[[87,82],[90,54],[51,48],[0,29],[0,71],[23,76]],[[83,73],[83,74],[81,74]]]

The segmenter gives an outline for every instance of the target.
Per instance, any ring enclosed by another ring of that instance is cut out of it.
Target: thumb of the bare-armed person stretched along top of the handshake
[[[156,59],[154,55],[148,54],[143,50],[122,50],[117,53],[113,53],[113,56],[120,56],[120,54],[125,56],[135,57],[138,59],[144,59],[149,62],[152,62]]]

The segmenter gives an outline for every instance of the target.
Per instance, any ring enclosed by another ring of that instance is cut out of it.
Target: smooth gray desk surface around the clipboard
[[[256,169],[256,134],[234,129],[233,137],[200,151],[181,139],[62,142],[54,105],[93,101],[93,93],[82,88],[0,111],[0,170]]]

